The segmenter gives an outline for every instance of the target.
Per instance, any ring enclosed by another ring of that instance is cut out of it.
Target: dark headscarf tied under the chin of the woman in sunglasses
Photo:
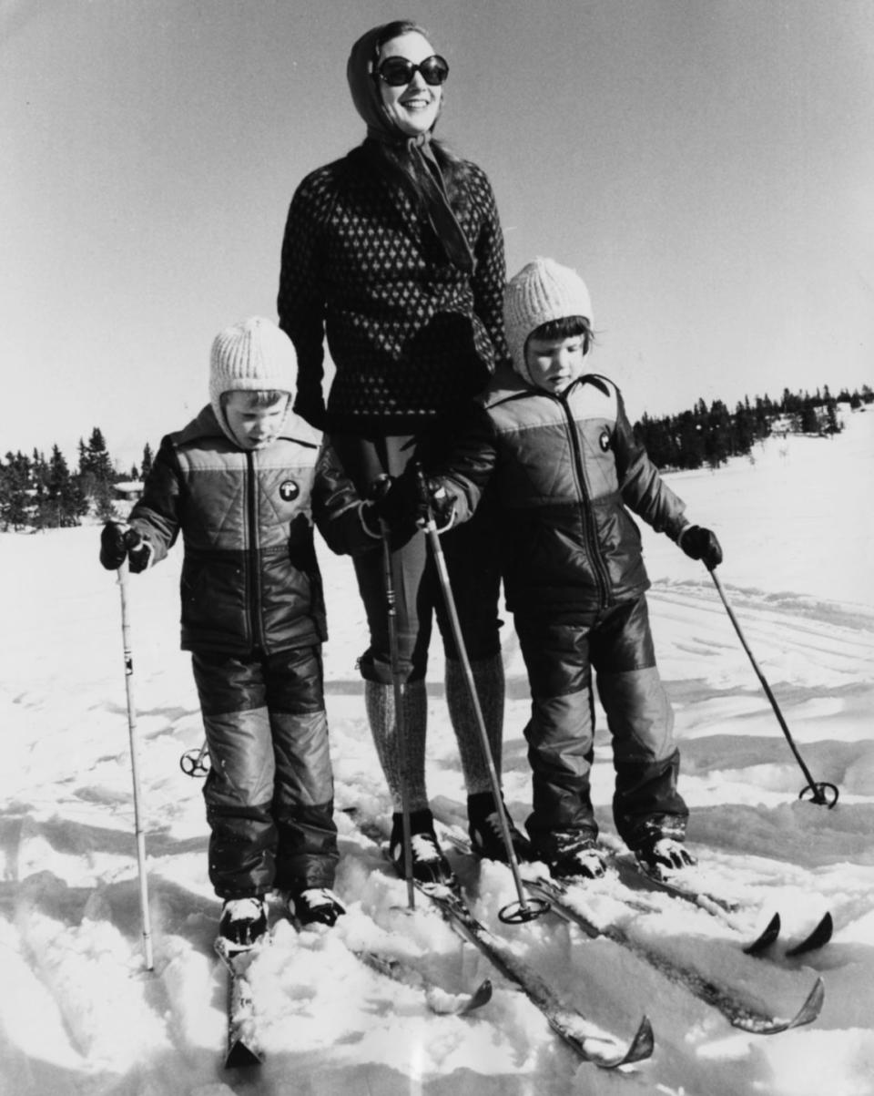
[[[430,132],[410,137],[400,129],[390,119],[377,81],[373,79],[379,62],[379,43],[389,25],[383,23],[381,26],[375,26],[363,34],[352,47],[346,64],[346,79],[349,82],[352,101],[355,110],[367,123],[368,137],[384,145],[405,148],[410,157],[414,161],[417,160],[433,179],[434,186],[423,187],[422,195],[428,220],[449,261],[469,274],[474,267],[473,252],[449,204],[446,180],[430,147]]]

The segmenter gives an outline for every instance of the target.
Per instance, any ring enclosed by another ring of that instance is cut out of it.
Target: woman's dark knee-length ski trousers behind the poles
[[[435,444],[439,444],[432,437],[415,435],[367,438],[334,434],[331,442],[365,498],[381,473],[399,476],[414,456],[424,454],[426,459],[433,459]],[[468,655],[471,662],[492,659],[501,653],[501,567],[494,524],[487,514],[478,512],[470,522],[445,533],[440,546]],[[353,562],[370,633],[370,646],[360,659],[361,676],[389,685],[393,678],[382,552],[365,552]],[[411,528],[407,535],[393,538],[391,566],[402,674],[405,681],[422,681],[427,672],[435,617],[446,657],[459,658],[437,568],[422,532]]]

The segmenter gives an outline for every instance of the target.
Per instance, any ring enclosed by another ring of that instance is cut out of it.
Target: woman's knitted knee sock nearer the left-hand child
[[[365,706],[370,722],[370,732],[377,747],[377,756],[391,794],[393,809],[395,811],[402,809],[404,787],[411,811],[427,809],[425,727],[428,700],[425,693],[425,682],[406,682],[403,686],[405,770],[401,765],[402,754],[398,740],[394,686],[383,685],[381,682],[365,681]]]

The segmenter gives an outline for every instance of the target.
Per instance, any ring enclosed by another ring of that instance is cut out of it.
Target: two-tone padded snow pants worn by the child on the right
[[[682,840],[689,812],[677,791],[674,713],[655,664],[646,600],[614,606],[585,626],[517,615],[516,632],[531,686],[527,827],[536,849],[549,857],[556,834],[598,832],[589,788],[593,670],[612,737],[619,835],[630,848],[653,831]]]

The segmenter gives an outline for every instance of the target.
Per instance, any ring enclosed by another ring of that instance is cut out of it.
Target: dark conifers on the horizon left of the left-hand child
[[[46,459],[37,449],[28,457],[19,450],[7,453],[0,463],[0,529],[62,528],[79,525],[87,514],[101,521],[116,516],[115,484],[148,475],[152,452],[142,450],[140,468],[118,472],[99,427],[88,445],[79,442],[79,467],[70,471],[57,445]]]

